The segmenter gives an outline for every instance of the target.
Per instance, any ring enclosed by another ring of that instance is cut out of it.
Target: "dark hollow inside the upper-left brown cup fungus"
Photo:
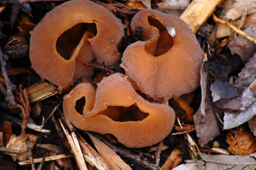
[[[90,31],[97,35],[97,26],[93,23],[79,23],[65,31],[56,42],[56,50],[66,60],[70,59],[74,49],[81,41],[84,33]],[[93,38],[93,37],[90,37]]]

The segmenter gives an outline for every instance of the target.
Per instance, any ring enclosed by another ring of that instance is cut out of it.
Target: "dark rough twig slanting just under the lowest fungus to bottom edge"
[[[92,135],[92,133],[90,133],[90,134]],[[109,143],[109,141],[107,139],[105,139],[104,137],[102,137],[98,134],[93,133],[93,135],[96,136],[98,139],[100,139],[100,141],[103,141],[105,144],[107,144],[110,148],[112,148],[112,150],[120,153],[120,155],[123,155],[124,157],[131,158],[131,159],[135,160],[135,162],[138,162],[139,164],[141,164],[145,168],[154,169],[154,170],[161,169],[161,167],[156,166],[155,164],[152,164],[152,163],[148,162],[145,159],[141,159],[140,155],[134,155],[133,153],[131,153],[131,151],[119,148],[119,147]]]

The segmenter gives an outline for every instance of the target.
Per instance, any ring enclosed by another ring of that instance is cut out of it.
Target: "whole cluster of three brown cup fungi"
[[[166,22],[175,29],[175,36],[168,33]],[[132,33],[138,27],[143,28],[141,39],[122,55],[125,74],[104,77],[97,88],[82,82],[63,101],[63,112],[75,127],[113,134],[132,148],[151,146],[170,134],[175,112],[163,101],[199,86],[204,56],[188,24],[179,17],[141,10],[131,21]],[[40,77],[67,89],[79,78],[93,76],[93,68],[84,62],[116,65],[123,37],[122,22],[106,8],[86,0],[68,1],[35,27],[29,57]]]

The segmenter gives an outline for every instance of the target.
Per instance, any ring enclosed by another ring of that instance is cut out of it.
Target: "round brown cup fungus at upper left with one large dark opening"
[[[68,87],[93,68],[83,62],[115,65],[118,44],[124,36],[122,22],[106,8],[91,1],[74,0],[47,13],[31,34],[29,56],[36,73]]]

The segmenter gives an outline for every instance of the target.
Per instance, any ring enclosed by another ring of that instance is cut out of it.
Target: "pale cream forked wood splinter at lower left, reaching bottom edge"
[[[70,144],[71,149],[74,153],[74,156],[75,156],[76,162],[77,162],[77,166],[81,170],[87,170],[86,164],[84,162],[83,153],[79,146],[79,142],[77,141],[75,132],[71,132],[71,135],[68,134],[68,130],[63,126],[63,124],[61,123],[61,120],[59,120],[59,121],[60,121],[61,128],[68,139],[68,143]]]

